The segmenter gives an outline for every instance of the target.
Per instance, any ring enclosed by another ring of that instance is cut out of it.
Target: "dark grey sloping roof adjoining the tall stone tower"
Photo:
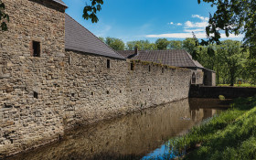
[[[101,55],[116,59],[125,59],[122,55],[107,46],[88,29],[66,14],[65,48],[85,53]]]

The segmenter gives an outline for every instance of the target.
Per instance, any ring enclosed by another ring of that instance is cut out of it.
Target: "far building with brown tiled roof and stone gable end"
[[[191,84],[216,86],[216,72],[204,68],[183,49],[174,50],[119,50],[126,59],[151,61],[168,66],[191,69]]]

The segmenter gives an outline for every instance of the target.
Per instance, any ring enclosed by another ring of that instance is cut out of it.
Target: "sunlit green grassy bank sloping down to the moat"
[[[184,159],[256,159],[256,97],[237,99],[231,109],[169,141],[171,155]]]

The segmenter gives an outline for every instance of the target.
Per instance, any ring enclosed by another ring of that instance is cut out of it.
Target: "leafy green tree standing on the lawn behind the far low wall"
[[[237,79],[251,80],[250,71],[253,69],[248,65],[249,52],[243,49],[239,41],[225,40],[219,45],[211,44],[208,46],[199,46],[197,60],[207,69],[217,72],[217,83],[231,86]]]

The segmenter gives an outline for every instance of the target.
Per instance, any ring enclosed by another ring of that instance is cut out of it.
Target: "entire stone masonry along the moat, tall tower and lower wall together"
[[[65,50],[64,8],[48,0],[3,2],[11,21],[0,33],[0,158],[76,125],[188,97],[190,70],[144,62],[131,70],[129,61]],[[39,58],[31,55],[33,40]]]

